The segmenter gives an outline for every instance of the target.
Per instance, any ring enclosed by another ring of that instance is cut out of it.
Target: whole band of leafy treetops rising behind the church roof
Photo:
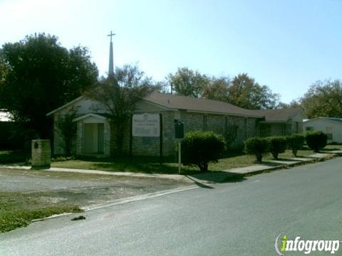
[[[224,76],[209,78],[189,68],[178,68],[177,73],[167,76],[167,81],[179,95],[220,100],[250,110],[273,109],[279,104],[279,95],[268,86],[259,85],[246,73],[230,80]]]

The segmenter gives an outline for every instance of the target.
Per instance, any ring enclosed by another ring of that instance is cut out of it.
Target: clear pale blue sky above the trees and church
[[[342,0],[0,0],[0,45],[45,32],[87,46],[100,75],[138,63],[155,80],[178,67],[249,73],[281,100],[342,78]]]

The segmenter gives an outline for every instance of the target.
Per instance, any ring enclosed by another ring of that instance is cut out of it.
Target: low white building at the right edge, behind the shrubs
[[[328,143],[342,143],[342,118],[317,117],[304,120],[303,132],[321,131],[328,135]]]

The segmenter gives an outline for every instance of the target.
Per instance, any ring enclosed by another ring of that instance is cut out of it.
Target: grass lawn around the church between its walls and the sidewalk
[[[326,146],[326,149],[342,149],[341,145]],[[314,151],[310,149],[299,150],[297,156],[308,156],[314,154]],[[279,159],[293,158],[291,150],[286,150],[285,153],[279,154]],[[271,154],[264,156],[264,161],[272,159]],[[254,157],[239,153],[230,154],[224,159],[220,159],[216,164],[209,164],[210,171],[222,171],[237,167],[249,166],[256,164]],[[123,159],[78,159],[68,161],[54,161],[51,166],[61,168],[73,168],[73,169],[91,169],[91,170],[103,170],[103,171],[129,171],[129,172],[142,172],[147,174],[177,174],[178,164],[174,161],[166,161],[160,165],[157,158],[138,158],[133,157],[130,161],[127,158]],[[183,174],[197,173],[198,169],[195,166],[182,166]]]

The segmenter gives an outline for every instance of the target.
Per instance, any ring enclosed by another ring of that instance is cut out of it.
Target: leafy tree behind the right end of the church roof
[[[266,85],[259,85],[246,73],[235,76],[229,86],[228,101],[233,105],[250,110],[274,109],[279,95],[271,92]]]

